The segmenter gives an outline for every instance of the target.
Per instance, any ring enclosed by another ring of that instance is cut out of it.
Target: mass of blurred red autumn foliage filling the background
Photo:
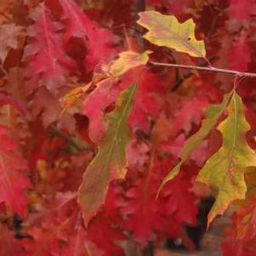
[[[135,49],[153,50],[155,61],[208,65],[145,42],[136,24],[145,9],[179,21],[193,18],[213,65],[255,71],[254,0],[0,1],[0,256],[121,256],[126,243],[159,246],[169,237],[187,237],[185,226],[196,225],[206,195],[195,195],[193,180],[220,144],[216,131],[157,200],[156,194],[185,140],[200,127],[204,109],[232,88],[233,77],[151,64],[111,77],[117,54]],[[137,92],[125,121],[133,134],[128,174],[111,182],[105,205],[85,227],[77,189],[108,129],[105,114],[133,82]],[[238,90],[249,108],[247,137],[255,147],[253,82],[243,79]],[[81,94],[70,95],[85,85]],[[73,105],[63,113],[60,99],[69,96]],[[256,254],[253,179],[246,201],[231,215],[227,256]]]

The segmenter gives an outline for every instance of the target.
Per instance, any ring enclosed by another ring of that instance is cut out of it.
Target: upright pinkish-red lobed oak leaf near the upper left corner
[[[32,89],[44,86],[57,94],[57,88],[65,85],[65,77],[74,66],[73,61],[62,47],[60,34],[57,33],[60,25],[51,20],[45,5],[39,4],[30,17],[34,24],[27,31],[32,42],[26,48],[26,56],[32,58],[29,62]]]

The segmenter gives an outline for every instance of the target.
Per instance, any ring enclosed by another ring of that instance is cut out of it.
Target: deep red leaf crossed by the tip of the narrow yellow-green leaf
[[[162,182],[162,177],[168,174],[173,164],[174,161],[170,156],[155,163],[152,172],[157,177],[157,189]],[[161,202],[158,214],[162,216],[162,223],[164,223],[159,227],[160,233],[177,237],[182,232],[184,223],[196,225],[196,196],[191,191],[193,174],[191,169],[186,173],[180,172],[161,191],[157,199]]]

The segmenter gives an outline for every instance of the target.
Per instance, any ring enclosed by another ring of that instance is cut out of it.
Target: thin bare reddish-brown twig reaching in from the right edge
[[[237,77],[256,77],[256,73],[233,71],[233,70],[227,70],[227,69],[217,68],[213,66],[206,67],[206,66],[198,66],[198,65],[182,65],[182,64],[162,63],[162,62],[156,62],[156,61],[150,61],[150,64],[162,65],[162,66],[168,66],[168,67],[179,67],[179,68],[196,70],[196,71],[219,72],[219,73],[234,75]]]

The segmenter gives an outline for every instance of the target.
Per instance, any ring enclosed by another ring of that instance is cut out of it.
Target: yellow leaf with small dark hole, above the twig
[[[205,57],[204,43],[196,40],[196,25],[192,19],[179,23],[174,16],[156,11],[139,13],[139,17],[137,23],[149,30],[144,37],[151,43],[174,48],[193,57]]]

